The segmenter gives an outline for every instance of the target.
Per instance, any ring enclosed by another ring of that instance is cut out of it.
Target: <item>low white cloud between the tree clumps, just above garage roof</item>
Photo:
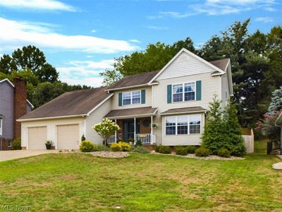
[[[102,61],[68,61],[67,66],[56,67],[61,81],[71,85],[97,87],[102,85],[103,78],[99,73],[104,69],[112,69],[114,59]]]

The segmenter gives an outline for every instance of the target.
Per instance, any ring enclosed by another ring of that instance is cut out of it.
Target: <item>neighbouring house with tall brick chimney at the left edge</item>
[[[32,110],[27,100],[25,81],[20,77],[11,83],[7,78],[0,81],[0,150],[11,148],[13,139],[20,137],[20,123],[16,119]]]

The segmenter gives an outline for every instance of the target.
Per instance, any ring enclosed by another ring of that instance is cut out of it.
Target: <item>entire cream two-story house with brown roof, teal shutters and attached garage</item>
[[[92,126],[112,119],[118,139],[144,145],[200,145],[205,112],[214,95],[225,106],[233,95],[230,59],[205,61],[181,49],[160,71],[126,76],[113,86],[64,93],[18,119],[22,146],[78,148],[80,138],[102,143]]]

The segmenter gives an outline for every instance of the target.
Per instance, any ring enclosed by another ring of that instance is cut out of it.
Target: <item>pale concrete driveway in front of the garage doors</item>
[[[0,161],[26,158],[34,155],[47,153],[57,153],[57,150],[19,150],[19,151],[0,151]]]

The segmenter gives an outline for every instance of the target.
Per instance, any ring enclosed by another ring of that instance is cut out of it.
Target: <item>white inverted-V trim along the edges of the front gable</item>
[[[225,71],[219,69],[219,67],[215,66],[214,64],[211,64],[211,63],[209,63],[208,61],[202,59],[202,57],[197,56],[197,54],[194,54],[194,53],[190,52],[188,49],[182,48],[182,49],[176,54],[176,56],[174,56],[173,59],[171,59],[171,60],[164,66],[164,68],[162,68],[161,71],[159,71],[159,73],[157,73],[156,76],[154,76],[154,77],[151,79],[151,81],[149,81],[149,84],[152,83],[152,82],[154,82],[154,80],[155,80],[158,76],[160,76],[161,73],[163,73],[164,70],[166,70],[166,68],[167,68],[170,64],[172,64],[173,61],[175,61],[175,60],[178,58],[178,56],[179,56],[181,53],[183,53],[183,52],[189,54],[191,57],[195,57],[195,59],[198,59],[198,60],[202,61],[204,64],[207,64],[207,66],[210,66],[212,69],[214,69],[214,71],[217,71],[217,72],[220,73],[220,74],[224,74],[224,73],[225,73]]]

